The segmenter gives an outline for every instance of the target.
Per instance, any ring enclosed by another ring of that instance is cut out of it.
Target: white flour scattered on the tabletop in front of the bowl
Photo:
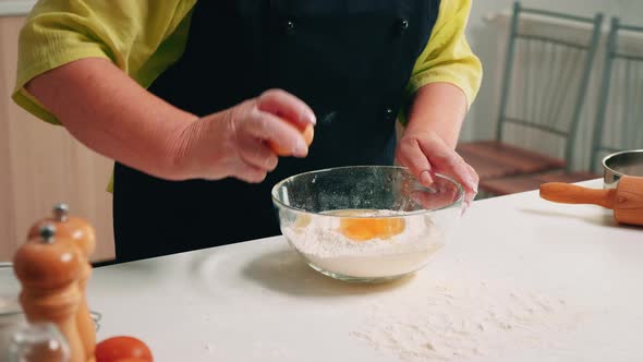
[[[441,282],[377,300],[351,336],[404,361],[460,361],[551,343],[543,336],[573,328],[579,317],[562,299]]]

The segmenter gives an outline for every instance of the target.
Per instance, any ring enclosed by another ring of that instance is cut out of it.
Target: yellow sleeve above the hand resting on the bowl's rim
[[[420,55],[407,95],[420,87],[446,82],[458,86],[471,106],[482,82],[482,64],[471,51],[465,28],[471,0],[441,0],[437,22],[424,51]]]

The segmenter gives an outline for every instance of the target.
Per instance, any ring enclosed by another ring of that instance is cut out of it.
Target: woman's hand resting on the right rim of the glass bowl
[[[465,207],[477,194],[480,178],[473,167],[435,132],[405,132],[396,152],[398,162],[408,167],[425,186],[430,186],[430,172],[439,172],[460,181],[464,186]]]

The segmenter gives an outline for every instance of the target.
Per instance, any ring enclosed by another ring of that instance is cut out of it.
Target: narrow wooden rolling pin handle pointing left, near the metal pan
[[[548,182],[541,185],[541,197],[563,204],[593,204],[614,208],[614,190],[587,189],[562,182]]]

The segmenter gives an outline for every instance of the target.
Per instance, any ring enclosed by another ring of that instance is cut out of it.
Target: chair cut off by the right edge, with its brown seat
[[[606,126],[608,125],[608,126]],[[607,39],[589,171],[544,172],[485,181],[496,195],[538,189],[544,182],[599,178],[608,154],[643,148],[643,27],[612,17]]]

